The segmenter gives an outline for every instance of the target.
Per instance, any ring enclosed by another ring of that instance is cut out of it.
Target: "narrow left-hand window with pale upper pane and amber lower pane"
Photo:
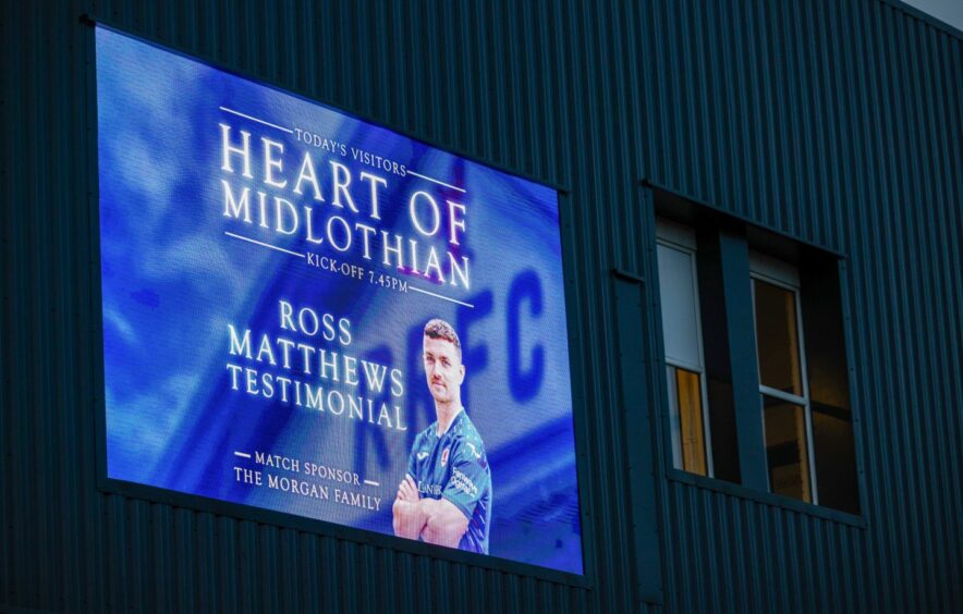
[[[678,469],[711,476],[695,234],[660,222],[658,259],[672,462]]]

